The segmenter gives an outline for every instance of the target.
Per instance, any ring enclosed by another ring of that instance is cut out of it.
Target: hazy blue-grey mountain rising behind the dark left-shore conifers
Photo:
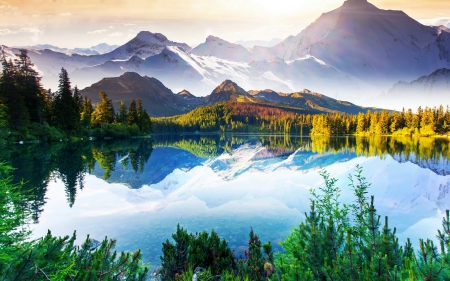
[[[59,79],[58,74],[62,67],[68,71],[72,84],[83,88],[102,78],[133,71],[133,69],[129,69],[130,67],[121,67],[120,64],[126,63],[135,66],[136,59],[142,60],[160,54],[167,46],[180,47],[186,51],[191,50],[191,47],[185,43],[170,41],[161,33],[149,31],[141,31],[126,44],[101,55],[87,56],[75,53],[66,54],[51,49],[27,49],[36,70],[43,76],[44,87],[56,89]],[[14,59],[14,54],[19,53],[18,48],[4,45],[0,45],[0,49],[5,51],[7,58]],[[83,69],[82,73],[80,73],[81,69]],[[145,73],[141,74],[145,75]]]

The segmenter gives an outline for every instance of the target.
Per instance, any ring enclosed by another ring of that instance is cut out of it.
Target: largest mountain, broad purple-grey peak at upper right
[[[347,0],[298,35],[252,52],[259,60],[312,56],[382,89],[450,66],[449,39],[445,27],[422,25],[402,11],[378,9],[366,0]]]

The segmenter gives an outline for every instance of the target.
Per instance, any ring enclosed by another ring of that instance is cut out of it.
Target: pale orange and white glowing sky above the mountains
[[[361,0],[363,1],[363,0]],[[343,0],[0,0],[0,44],[90,47],[124,44],[139,31],[196,46],[296,35]],[[372,0],[427,24],[450,18],[448,0]]]

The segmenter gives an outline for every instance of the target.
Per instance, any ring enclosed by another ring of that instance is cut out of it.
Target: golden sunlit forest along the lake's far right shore
[[[154,133],[250,132],[295,135],[434,136],[450,133],[450,109],[444,106],[416,112],[381,110],[346,114],[296,114],[247,103],[219,103],[175,117],[152,118]]]

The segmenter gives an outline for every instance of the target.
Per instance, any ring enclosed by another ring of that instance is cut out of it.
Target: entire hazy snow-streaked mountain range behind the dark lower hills
[[[2,49],[9,57],[17,53],[14,48]],[[30,49],[29,55],[46,88],[56,88],[64,67],[80,88],[131,71],[195,96],[206,96],[230,79],[247,91],[293,93],[306,88],[359,104],[400,109],[404,104],[388,92],[394,84],[450,69],[450,29],[423,25],[402,11],[378,9],[366,0],[347,0],[272,47],[247,49],[209,36],[192,49],[160,33],[142,31],[105,54]],[[436,91],[425,104],[415,102],[421,96],[409,94],[408,106],[450,104],[448,92]]]

